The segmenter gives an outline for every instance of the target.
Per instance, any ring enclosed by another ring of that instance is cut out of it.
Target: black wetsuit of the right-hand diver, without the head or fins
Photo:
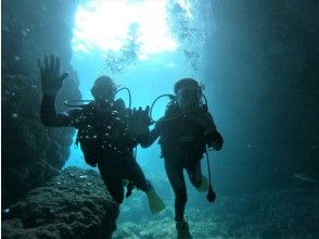
[[[212,117],[210,114],[209,116]],[[168,104],[165,116],[155,124],[151,134],[160,137],[158,143],[162,149],[166,174],[176,197],[175,219],[176,222],[183,221],[187,203],[183,169],[187,171],[192,185],[196,188],[200,187],[202,184],[200,162],[206,150],[206,143],[210,144],[218,140],[218,143],[222,144],[224,140],[216,129],[205,135],[205,129],[182,114],[177,103]]]

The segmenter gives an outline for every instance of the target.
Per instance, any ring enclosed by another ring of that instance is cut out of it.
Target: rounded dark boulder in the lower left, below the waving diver
[[[2,238],[111,238],[118,213],[97,172],[69,167],[2,212]]]

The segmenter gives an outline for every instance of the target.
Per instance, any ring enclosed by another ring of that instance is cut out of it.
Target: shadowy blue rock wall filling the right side
[[[206,92],[226,141],[212,153],[219,191],[319,178],[318,11],[314,0],[212,2]]]

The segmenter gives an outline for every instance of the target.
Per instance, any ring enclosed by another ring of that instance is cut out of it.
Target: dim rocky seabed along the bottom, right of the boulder
[[[204,193],[205,196],[205,193]],[[189,193],[186,216],[193,238],[318,238],[319,237],[319,188],[286,188],[263,192],[218,196],[208,203],[203,193]],[[135,199],[137,194],[133,194]],[[202,199],[202,200],[201,200]],[[135,199],[135,201],[141,201]],[[132,216],[128,210],[118,218],[114,239],[122,238],[176,238],[174,201],[160,215]]]

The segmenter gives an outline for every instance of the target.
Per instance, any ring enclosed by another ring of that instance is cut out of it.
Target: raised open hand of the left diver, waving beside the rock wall
[[[38,67],[41,75],[42,93],[46,96],[56,96],[63,85],[63,79],[68,76],[67,73],[60,75],[60,59],[51,54],[49,62],[49,56],[44,55],[44,67],[39,59]]]

